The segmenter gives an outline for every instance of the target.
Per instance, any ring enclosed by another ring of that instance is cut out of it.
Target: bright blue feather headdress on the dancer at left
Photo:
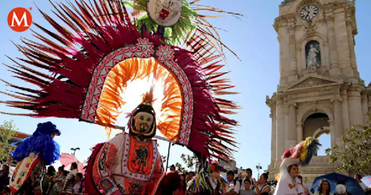
[[[59,145],[50,136],[52,134],[60,135],[60,131],[52,122],[39,123],[36,131],[28,138],[22,140],[10,155],[16,161],[29,156],[30,152],[39,154],[45,165],[51,165],[60,157]]]

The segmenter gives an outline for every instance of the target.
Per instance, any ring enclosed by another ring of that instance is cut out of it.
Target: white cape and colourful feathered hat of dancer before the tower
[[[319,146],[321,144],[316,138],[308,137],[283,153],[280,172],[276,176],[278,184],[274,195],[304,195],[304,187],[300,179],[290,176],[289,171],[292,165],[307,166]]]

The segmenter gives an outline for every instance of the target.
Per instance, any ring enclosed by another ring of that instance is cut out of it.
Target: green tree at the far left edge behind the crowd
[[[17,134],[18,128],[14,124],[13,120],[4,121],[0,125],[0,161],[6,162],[9,157],[12,146],[10,146],[10,139]]]

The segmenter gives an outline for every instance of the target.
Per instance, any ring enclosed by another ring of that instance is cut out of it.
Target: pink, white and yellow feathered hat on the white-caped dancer
[[[301,166],[307,166],[320,146],[321,144],[318,142],[318,139],[307,137],[295,147],[286,150],[282,155],[282,159],[298,159]]]

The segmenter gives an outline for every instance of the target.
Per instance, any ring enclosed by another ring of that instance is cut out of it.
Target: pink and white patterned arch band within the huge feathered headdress
[[[93,71],[91,82],[86,91],[80,120],[95,122],[99,98],[102,93],[105,78],[109,71],[119,62],[133,57],[154,57],[161,62],[167,70],[171,71],[180,84],[183,96],[183,109],[181,113],[178,144],[188,145],[193,119],[193,91],[184,70],[174,61],[175,50],[170,45],[155,46],[148,38],[142,37],[137,43],[119,48],[102,58]]]

